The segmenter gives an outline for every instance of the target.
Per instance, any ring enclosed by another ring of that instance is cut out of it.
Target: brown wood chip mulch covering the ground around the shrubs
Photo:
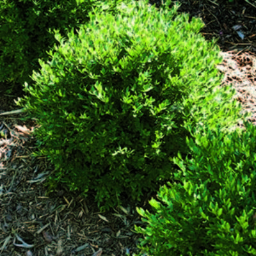
[[[236,98],[244,111],[252,111],[251,120],[255,123],[255,1],[181,0],[180,3],[179,12],[202,18],[205,39],[219,38],[217,44],[224,60],[218,68],[225,74],[221,86],[234,84]],[[84,200],[61,185],[46,195],[44,183],[53,166],[44,157],[31,156],[36,142],[31,131],[36,127],[36,120],[22,120],[26,114],[15,112],[19,107],[14,99],[17,95],[0,97],[0,113],[9,112],[0,115],[0,255],[138,253],[136,243],[141,236],[131,229],[134,224],[146,225],[136,206],[151,209],[148,200],[156,198],[156,193],[145,195],[140,204],[127,202],[124,208],[116,207],[108,212],[99,212],[93,195]]]

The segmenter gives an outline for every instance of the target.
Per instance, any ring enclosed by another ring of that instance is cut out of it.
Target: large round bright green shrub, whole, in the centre
[[[216,90],[219,49],[196,35],[202,21],[147,3],[118,4],[115,16],[95,8],[67,42],[56,33],[60,47],[25,84],[30,95],[17,103],[41,125],[34,156],[56,166],[49,191],[90,189],[101,209],[122,195],[140,201],[172,179],[177,152],[188,154],[186,125],[207,119],[228,131],[237,121],[234,92]]]

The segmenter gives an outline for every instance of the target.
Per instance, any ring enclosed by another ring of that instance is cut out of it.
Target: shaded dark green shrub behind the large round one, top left
[[[88,22],[95,6],[114,12],[117,1],[101,0],[7,0],[0,1],[0,88],[2,92],[22,91],[31,83],[38,59],[47,61],[46,51],[54,43],[54,29],[67,36],[71,28]],[[76,33],[76,32],[75,32]]]

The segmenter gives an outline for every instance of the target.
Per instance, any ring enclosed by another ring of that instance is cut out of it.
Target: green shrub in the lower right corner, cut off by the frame
[[[155,214],[137,211],[148,223],[138,246],[148,255],[256,255],[255,126],[246,132],[205,129],[187,140],[192,157],[175,157],[177,183],[163,186],[151,200]]]

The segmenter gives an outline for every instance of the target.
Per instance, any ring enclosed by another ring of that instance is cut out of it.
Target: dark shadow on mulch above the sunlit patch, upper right
[[[205,24],[202,35],[209,41],[218,39],[221,51],[256,53],[256,1],[250,2],[180,0],[178,13],[189,13],[189,21],[192,17],[201,18]],[[161,6],[161,1],[150,1],[150,4],[154,3],[157,8]]]

